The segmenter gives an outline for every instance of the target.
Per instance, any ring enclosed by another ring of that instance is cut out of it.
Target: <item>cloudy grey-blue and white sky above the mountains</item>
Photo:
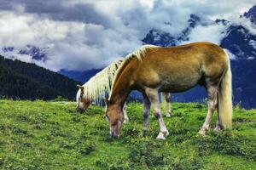
[[[139,48],[153,28],[175,37],[189,26],[190,14],[205,23],[195,27],[189,42],[219,43],[226,28],[209,24],[211,20],[249,25],[239,16],[254,4],[255,0],[0,0],[0,47],[42,48],[48,56],[44,61],[16,57],[52,71],[98,69]]]

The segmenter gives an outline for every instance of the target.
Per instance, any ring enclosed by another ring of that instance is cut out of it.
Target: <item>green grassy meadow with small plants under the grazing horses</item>
[[[170,136],[143,137],[142,105],[128,105],[120,139],[108,135],[104,109],[79,114],[73,103],[0,100],[0,167],[9,169],[255,169],[256,110],[234,110],[232,131],[197,135],[201,104],[172,104]],[[216,117],[214,117],[215,119]],[[213,126],[213,122],[212,122]]]

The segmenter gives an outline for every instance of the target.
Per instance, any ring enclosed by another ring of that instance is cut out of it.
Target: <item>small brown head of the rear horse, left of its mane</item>
[[[84,112],[90,106],[90,99],[84,97],[84,87],[77,85],[79,91],[77,93],[77,111]]]

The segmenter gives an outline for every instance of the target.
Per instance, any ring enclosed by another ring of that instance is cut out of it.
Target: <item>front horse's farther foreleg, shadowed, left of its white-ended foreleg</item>
[[[150,101],[147,95],[143,94],[143,120],[144,120],[143,134],[147,133],[149,130],[149,114],[150,114]]]

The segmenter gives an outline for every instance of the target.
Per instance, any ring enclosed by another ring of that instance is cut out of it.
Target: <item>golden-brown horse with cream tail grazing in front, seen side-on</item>
[[[218,108],[215,130],[231,128],[232,85],[230,59],[224,49],[210,42],[195,42],[187,45],[162,48],[143,46],[125,57],[116,72],[109,99],[106,99],[106,116],[110,134],[118,138],[124,122],[123,105],[132,89],[143,94],[144,130],[148,130],[150,105],[159,120],[160,133],[157,139],[166,139],[169,134],[160,113],[158,92],[183,92],[204,86],[208,94],[207,118],[200,133],[210,126],[213,111]]]

